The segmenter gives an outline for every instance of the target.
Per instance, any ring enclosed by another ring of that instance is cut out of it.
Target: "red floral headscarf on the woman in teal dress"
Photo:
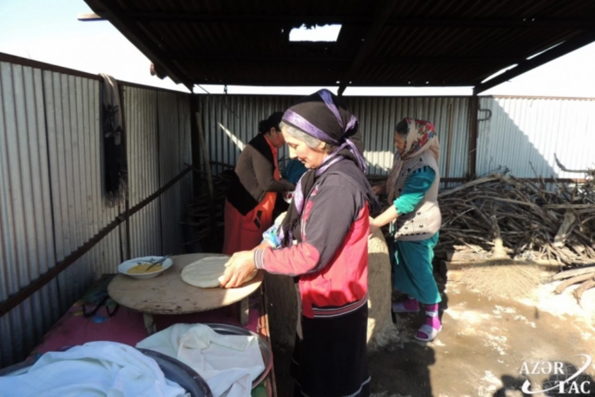
[[[431,151],[436,162],[438,162],[440,157],[440,143],[438,142],[434,123],[425,120],[414,120],[413,118],[405,118],[405,121],[408,125],[405,149],[403,150],[403,155],[397,154],[394,157],[393,168],[390,170],[389,180],[386,185],[389,202],[394,201],[396,198],[394,196],[394,189],[405,161],[411,160],[428,150]]]

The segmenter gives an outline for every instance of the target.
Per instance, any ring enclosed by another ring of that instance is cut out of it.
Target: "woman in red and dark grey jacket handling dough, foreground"
[[[320,90],[285,112],[281,130],[308,172],[283,224],[253,251],[234,254],[221,285],[237,287],[257,268],[296,276],[295,395],[367,397],[369,213],[378,203],[364,174],[358,120]]]

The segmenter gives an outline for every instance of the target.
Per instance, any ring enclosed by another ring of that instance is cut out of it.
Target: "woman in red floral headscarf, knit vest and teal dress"
[[[420,302],[425,304],[425,323],[414,337],[429,342],[442,329],[441,298],[432,267],[441,224],[440,145],[434,124],[405,118],[396,126],[394,146],[397,154],[386,185],[392,205],[371,221],[370,229],[373,233],[390,223],[394,289],[407,295],[405,301],[393,304],[393,311],[418,312]]]

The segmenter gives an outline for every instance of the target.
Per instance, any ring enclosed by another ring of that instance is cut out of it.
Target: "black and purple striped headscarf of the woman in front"
[[[301,240],[299,220],[303,204],[318,177],[339,161],[353,161],[362,172],[366,166],[358,119],[329,90],[322,89],[300,99],[283,114],[282,120],[322,142],[337,146],[318,168],[303,174],[296,185],[292,204],[279,230],[283,245],[289,246],[294,239]]]

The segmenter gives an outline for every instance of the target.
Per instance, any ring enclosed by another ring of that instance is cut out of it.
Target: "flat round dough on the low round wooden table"
[[[184,283],[199,288],[217,288],[220,287],[219,279],[223,277],[226,267],[225,264],[230,257],[207,257],[196,262],[192,262],[182,269],[181,277]],[[255,270],[246,277],[244,283],[252,280],[258,270]]]

